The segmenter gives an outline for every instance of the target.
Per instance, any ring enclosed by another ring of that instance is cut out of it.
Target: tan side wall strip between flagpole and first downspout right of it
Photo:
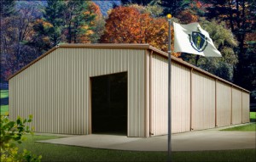
[[[172,62],[172,133],[190,131],[190,70]]]

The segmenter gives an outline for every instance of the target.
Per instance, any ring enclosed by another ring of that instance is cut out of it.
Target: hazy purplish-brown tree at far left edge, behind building
[[[38,10],[33,3],[28,6],[27,2],[20,2],[17,15],[1,20],[1,65],[8,74],[14,74],[37,58],[34,49],[26,45],[32,41],[32,24],[38,18]]]

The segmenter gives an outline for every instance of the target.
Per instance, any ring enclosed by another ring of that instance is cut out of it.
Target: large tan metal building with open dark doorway
[[[148,44],[61,44],[9,78],[9,116],[37,132],[167,134],[167,53]],[[172,132],[249,122],[249,92],[172,57]]]

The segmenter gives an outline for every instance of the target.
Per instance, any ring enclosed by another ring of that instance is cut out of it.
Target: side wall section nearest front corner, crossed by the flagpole
[[[152,58],[152,130],[154,136],[167,134],[168,60]],[[172,62],[172,133],[190,130],[190,70]]]

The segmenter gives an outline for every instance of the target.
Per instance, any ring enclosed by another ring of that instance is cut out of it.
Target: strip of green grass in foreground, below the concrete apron
[[[166,161],[166,152],[137,152],[96,148],[82,148],[51,143],[35,142],[58,137],[30,136],[18,145],[33,154],[41,154],[42,161]],[[173,152],[172,161],[255,161],[256,149],[225,151]]]

